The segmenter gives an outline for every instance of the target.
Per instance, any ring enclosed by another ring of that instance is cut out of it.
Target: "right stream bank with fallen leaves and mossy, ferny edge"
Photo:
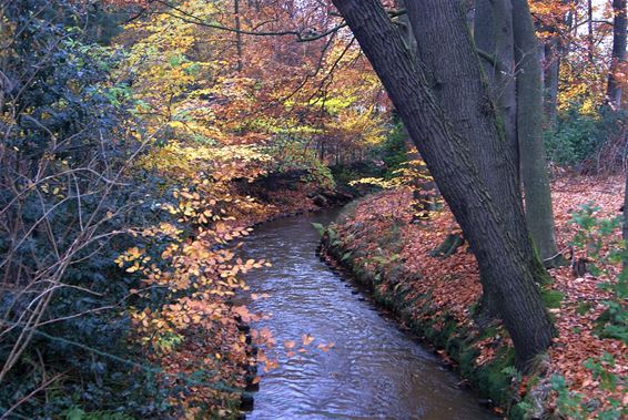
[[[478,328],[470,320],[480,293],[476,290],[478,281],[473,277],[473,264],[467,262],[473,256],[463,247],[456,253],[457,262],[429,257],[428,247],[442,243],[452,231],[428,229],[428,235],[437,238],[432,245],[424,245],[425,249],[414,250],[424,258],[434,258],[432,264],[437,268],[434,273],[422,273],[423,267],[408,265],[404,258],[407,245],[404,226],[412,224],[412,212],[406,214],[398,208],[406,204],[409,207],[412,195],[403,197],[408,203],[395,202],[397,196],[374,198],[351,204],[336,224],[325,229],[318,226],[323,235],[321,257],[366,288],[377,305],[429,346],[462,377],[459,383],[477,392],[496,413],[510,419],[540,418],[547,412],[547,387],[540,388],[544,395],[533,396],[530,390],[538,379],[521,382],[514,370],[514,351],[503,328],[498,324]],[[389,207],[379,207],[391,202],[394,204]],[[468,266],[469,276],[454,275],[448,264]],[[433,277],[440,277],[442,285],[432,281]]]

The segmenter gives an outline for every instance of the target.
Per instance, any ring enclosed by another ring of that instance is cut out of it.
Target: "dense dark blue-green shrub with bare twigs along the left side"
[[[0,414],[165,407],[150,369],[134,371],[123,311],[133,285],[113,263],[131,243],[121,233],[150,214],[143,187],[128,184],[143,144],[121,124],[118,52],[91,42],[87,16],[74,1],[0,10],[12,41],[0,51]]]

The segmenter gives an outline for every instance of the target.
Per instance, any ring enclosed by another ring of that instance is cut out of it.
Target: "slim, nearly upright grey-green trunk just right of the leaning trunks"
[[[546,263],[563,263],[556,247],[554,211],[543,144],[543,82],[539,42],[527,0],[511,0],[517,60],[517,135],[526,219],[534,243]]]

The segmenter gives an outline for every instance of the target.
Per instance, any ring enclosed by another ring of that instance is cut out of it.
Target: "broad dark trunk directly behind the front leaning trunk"
[[[407,2],[406,10],[417,40],[417,60],[428,75],[432,91],[459,133],[465,133],[472,158],[503,214],[504,228],[521,244],[533,260],[529,233],[520,223],[524,209],[518,183],[516,148],[505,140],[504,124],[489,94],[486,76],[470,37],[464,1]],[[445,18],[447,17],[447,21]],[[449,49],[445,45],[465,45]]]

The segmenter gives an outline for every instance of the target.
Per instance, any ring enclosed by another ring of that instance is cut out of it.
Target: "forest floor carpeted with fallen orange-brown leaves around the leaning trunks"
[[[553,182],[553,198],[558,246],[569,256],[570,244],[578,229],[571,223],[571,213],[581,205],[595,203],[599,209],[592,216],[597,218],[621,215],[624,180],[560,177]],[[472,313],[480,297],[482,286],[477,263],[468,252],[467,243],[450,257],[431,255],[447,235],[460,233],[457,223],[447,207],[433,214],[427,222],[413,223],[412,204],[412,191],[405,187],[384,191],[358,202],[346,212],[346,219],[341,219],[335,227],[343,249],[353,252],[354,256],[359,255],[356,257],[362,259],[359,264],[373,266],[374,273],[384,274],[378,288],[409,288],[408,300],[429,295],[433,311],[426,315],[417,308],[416,317],[438,319],[447,314],[460,328],[478,331]],[[395,234],[382,234],[392,232]],[[620,232],[615,229],[611,237],[617,239],[619,235]],[[389,236],[388,243],[383,236]],[[590,258],[583,249],[574,249],[576,259]],[[626,407],[628,403],[628,395],[622,391],[622,381],[628,375],[626,345],[619,339],[601,338],[597,330],[597,320],[607,309],[605,300],[610,299],[610,294],[600,289],[598,284],[615,281],[619,274],[618,266],[609,265],[607,268],[609,274],[606,278],[589,273],[578,276],[569,266],[550,269],[554,283],[549,287],[561,299],[549,309],[558,335],[549,350],[546,377],[554,373],[561,376],[567,390],[567,393],[560,395],[557,388],[551,388],[550,411],[565,413],[571,408],[561,408],[561,404],[588,404],[590,411],[599,413],[612,410],[611,404]],[[476,365],[490,362],[502,347],[511,347],[509,338],[503,332],[476,341],[479,350]],[[447,358],[444,351],[440,354]],[[527,390],[526,381],[527,378],[519,380],[518,392],[521,396]]]

